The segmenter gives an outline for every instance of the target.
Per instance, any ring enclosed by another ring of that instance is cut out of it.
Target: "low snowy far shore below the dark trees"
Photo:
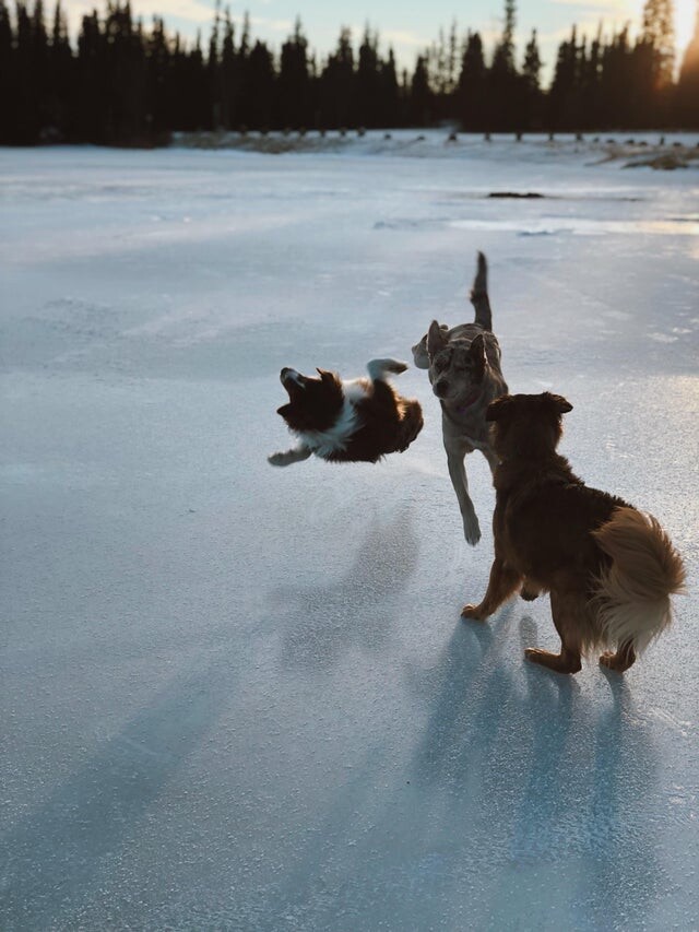
[[[455,133],[449,130],[337,130],[311,132],[196,132],[177,133],[173,145],[187,149],[235,149],[285,153],[344,153],[412,157],[518,158],[538,161],[552,155],[587,155],[595,161],[628,160],[628,167],[672,169],[699,167],[699,133],[643,132],[581,134]]]

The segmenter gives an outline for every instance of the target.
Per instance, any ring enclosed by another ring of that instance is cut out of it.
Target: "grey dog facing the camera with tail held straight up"
[[[473,323],[450,330],[433,320],[428,332],[413,346],[413,358],[418,368],[428,370],[439,399],[447,467],[459,499],[464,536],[470,544],[477,544],[481,527],[469,495],[465,457],[481,450],[490,471],[495,470],[497,457],[485,413],[488,404],[508,390],[500,370],[500,347],[491,330],[487,264],[482,252],[471,304],[476,312]]]

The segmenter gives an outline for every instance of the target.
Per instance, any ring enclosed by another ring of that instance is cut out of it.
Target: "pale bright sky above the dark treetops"
[[[625,22],[635,28],[641,20],[644,0],[520,0],[517,13],[518,49],[523,49],[533,28],[537,30],[538,44],[544,60],[542,78],[547,82],[553,73],[559,43],[570,34],[574,24],[579,35],[592,36],[599,24],[611,32]],[[163,16],[173,32],[193,38],[201,30],[208,38],[215,0],[132,0],[137,15],[149,22],[152,16]],[[94,7],[103,9],[95,0],[63,0],[71,28],[76,28],[80,17]],[[490,49],[501,34],[503,0],[431,0],[429,3],[405,4],[400,0],[245,0],[226,3],[234,22],[241,22],[245,11],[250,14],[253,38],[265,40],[279,50],[300,16],[311,50],[322,59],[337,42],[340,27],[350,26],[358,42],[365,25],[378,31],[383,51],[391,45],[401,68],[412,70],[417,55],[437,40],[439,30],[449,32],[457,21],[460,34],[477,31],[486,49]],[[694,28],[696,0],[675,0],[676,35],[678,48],[684,50]]]

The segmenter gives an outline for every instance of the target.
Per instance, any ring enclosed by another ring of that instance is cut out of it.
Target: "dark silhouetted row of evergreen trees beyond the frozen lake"
[[[76,45],[58,0],[13,12],[0,0],[0,143],[165,143],[173,131],[426,127],[470,131],[699,127],[699,35],[674,80],[672,0],[647,0],[639,36],[625,27],[592,39],[573,27],[550,87],[541,84],[536,32],[516,60],[516,0],[505,0],[502,35],[486,55],[478,33],[448,34],[412,72],[382,54],[367,27],[347,28],[323,60],[300,21],[279,54],[216,11],[209,42],[193,44],[134,20],[128,2],[83,16]]]

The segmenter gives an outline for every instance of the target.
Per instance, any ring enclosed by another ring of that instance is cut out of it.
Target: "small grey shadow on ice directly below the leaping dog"
[[[352,539],[347,538],[347,545]],[[380,650],[399,616],[399,599],[417,566],[419,542],[410,508],[375,518],[348,569],[323,586],[279,586],[284,665],[329,668],[350,647]]]

